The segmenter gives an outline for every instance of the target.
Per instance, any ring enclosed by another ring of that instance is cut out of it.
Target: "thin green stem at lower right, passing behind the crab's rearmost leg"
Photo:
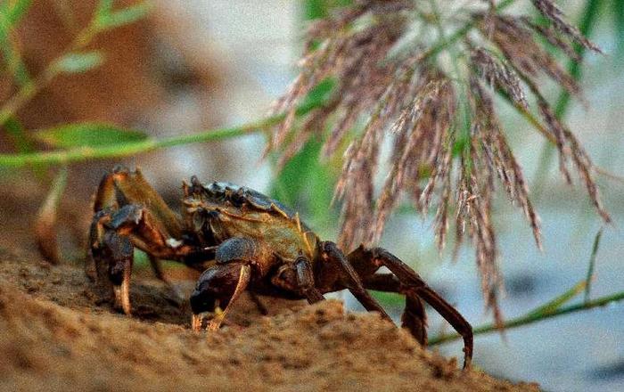
[[[520,327],[522,325],[527,325],[527,324],[531,324],[531,323],[538,323],[538,322],[543,321],[543,320],[547,320],[547,319],[550,319],[550,318],[558,317],[558,316],[561,316],[563,314],[571,314],[571,313],[575,313],[575,312],[589,310],[589,309],[592,309],[592,308],[598,307],[598,306],[610,305],[612,303],[615,303],[615,302],[618,302],[618,301],[621,301],[621,300],[624,300],[624,291],[620,291],[619,293],[613,294],[611,296],[597,298],[597,299],[594,299],[592,301],[581,302],[581,303],[579,303],[577,305],[560,307],[560,308],[554,309],[552,311],[546,311],[546,312],[543,312],[543,313],[530,312],[529,314],[525,314],[525,315],[523,315],[521,317],[513,318],[511,320],[507,320],[505,322],[505,324],[503,325],[503,328],[505,330],[510,330],[512,328],[517,328],[517,327]],[[472,333],[474,335],[482,335],[484,333],[489,333],[489,332],[494,332],[494,331],[500,331],[500,329],[497,328],[497,326],[494,325],[493,323],[489,323],[489,324],[481,325],[481,326],[479,326],[477,328],[474,328],[472,330]],[[453,341],[453,340],[457,340],[457,339],[461,339],[461,336],[457,335],[456,333],[443,334],[443,335],[440,335],[440,336],[436,336],[433,339],[430,339],[429,340],[429,344],[431,346],[434,346],[434,345],[439,345],[439,344],[446,343],[446,342]]]

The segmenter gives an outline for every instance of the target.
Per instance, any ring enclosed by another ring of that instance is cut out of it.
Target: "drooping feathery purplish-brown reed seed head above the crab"
[[[272,148],[285,151],[283,163],[309,137],[321,135],[328,156],[341,150],[354,128],[360,129],[344,151],[335,190],[335,198],[342,200],[341,246],[353,249],[361,242],[379,241],[403,194],[423,213],[435,208],[439,249],[454,215],[456,246],[466,235],[472,240],[484,297],[500,325],[497,297],[502,278],[491,219],[497,183],[524,212],[540,249],[541,232],[521,165],[497,118],[494,93],[528,112],[535,110],[528,93],[537,99],[539,116],[556,141],[563,176],[571,181],[571,161],[600,215],[605,221],[610,218],[599,198],[591,159],[554,116],[537,82],[547,76],[581,97],[577,81],[546,51],[539,37],[572,60],[579,60],[573,45],[599,49],[563,20],[551,0],[532,0],[549,21],[547,26],[526,16],[498,12],[495,2],[482,3],[480,9],[451,10],[445,18],[436,0],[359,1],[314,22],[308,29],[300,75],[275,103],[275,112],[285,110],[288,115],[275,131]],[[445,30],[453,26],[456,30],[451,33],[462,31],[458,20],[465,23],[466,19],[472,29],[447,41]],[[434,29],[439,31],[437,41],[426,34]],[[437,45],[444,45],[452,66],[433,50]],[[298,124],[297,104],[326,78],[336,84],[331,103]],[[393,141],[389,168],[375,197],[374,176],[387,137]]]

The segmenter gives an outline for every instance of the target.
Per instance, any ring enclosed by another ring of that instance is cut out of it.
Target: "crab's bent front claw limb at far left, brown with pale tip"
[[[198,250],[180,241],[182,225],[140,171],[116,167],[95,194],[87,260],[97,282],[114,294],[115,306],[130,314],[129,285],[134,247],[144,250],[157,276],[156,258],[184,260]],[[163,279],[166,282],[166,279]]]

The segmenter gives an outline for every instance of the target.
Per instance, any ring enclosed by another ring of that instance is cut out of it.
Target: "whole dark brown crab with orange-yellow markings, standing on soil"
[[[382,248],[359,246],[345,255],[332,241],[321,241],[299,213],[260,192],[226,183],[183,182],[178,216],[147,183],[139,169],[115,167],[94,197],[88,259],[97,282],[111,290],[114,306],[131,314],[130,275],[134,249],[149,257],[156,276],[168,282],[161,259],[202,272],[190,297],[193,330],[207,315],[208,330],[218,330],[243,291],[278,298],[306,299],[349,290],[368,311],[390,315],[367,290],[399,293],[401,317],[424,347],[427,302],[464,339],[464,368],[472,359],[472,327],[415,271]],[[390,273],[379,272],[386,267]]]

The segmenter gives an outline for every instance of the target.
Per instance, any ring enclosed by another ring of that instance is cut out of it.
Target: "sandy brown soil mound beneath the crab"
[[[0,390],[538,390],[462,372],[333,300],[261,298],[262,315],[245,298],[220,331],[194,333],[185,301],[140,275],[127,317],[99,301],[80,267],[0,249]]]

